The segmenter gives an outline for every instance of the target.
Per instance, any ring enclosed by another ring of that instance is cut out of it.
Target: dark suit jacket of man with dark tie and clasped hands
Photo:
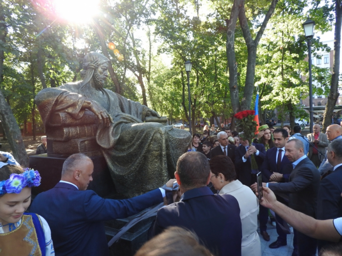
[[[289,181],[290,174],[293,170],[292,163],[285,157],[281,159],[280,170],[277,168],[277,151],[278,148],[273,147],[267,150],[266,157],[261,165],[260,172],[262,173],[262,181],[269,182],[273,173],[281,173],[284,177],[284,182]]]

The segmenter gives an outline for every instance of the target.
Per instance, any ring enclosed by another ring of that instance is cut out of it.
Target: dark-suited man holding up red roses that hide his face
[[[235,169],[237,179],[249,187],[256,182],[256,174],[259,172],[259,170],[252,170],[250,156],[255,156],[259,169],[266,156],[266,151],[263,144],[252,143],[250,146],[249,141],[242,138],[240,138],[240,142],[241,145],[235,149]]]

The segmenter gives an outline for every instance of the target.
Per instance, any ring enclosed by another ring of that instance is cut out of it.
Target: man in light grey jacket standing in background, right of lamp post
[[[319,124],[314,125],[314,132],[308,134],[307,137],[311,142],[309,148],[309,158],[315,164],[315,166],[320,167],[321,161],[323,161],[325,158],[325,148],[329,145],[329,140],[326,137],[326,134],[321,133],[321,125]],[[318,150],[313,146],[315,146]]]

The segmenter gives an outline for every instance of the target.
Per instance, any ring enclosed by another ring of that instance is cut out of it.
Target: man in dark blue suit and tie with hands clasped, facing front
[[[285,144],[288,141],[288,133],[284,129],[276,129],[273,133],[275,147],[267,150],[264,162],[261,165],[260,171],[262,173],[263,182],[288,182],[289,176],[293,169],[290,160],[285,157]],[[287,203],[281,197],[277,197],[282,203]],[[276,228],[278,233],[277,241],[270,244],[270,248],[279,248],[286,243],[286,233],[281,228],[283,220],[276,214]],[[260,205],[259,208],[259,223],[260,234],[265,240],[269,240],[266,231],[266,224],[268,220],[268,209]],[[280,224],[280,225],[279,225]]]

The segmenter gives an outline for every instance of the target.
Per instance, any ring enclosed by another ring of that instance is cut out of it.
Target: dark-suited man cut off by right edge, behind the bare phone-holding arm
[[[333,172],[321,180],[317,199],[317,219],[342,217],[342,143],[334,140],[328,146],[327,159],[333,166]],[[333,244],[319,240],[321,247]]]

